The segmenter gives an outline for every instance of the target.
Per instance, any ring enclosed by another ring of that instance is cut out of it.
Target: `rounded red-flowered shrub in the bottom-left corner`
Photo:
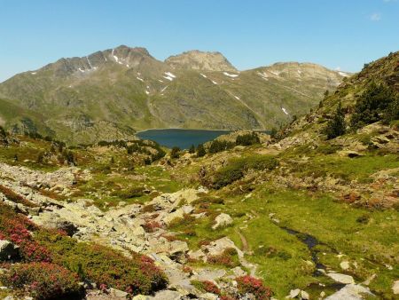
[[[35,299],[81,299],[79,278],[57,264],[13,264],[0,277],[7,287],[28,292]]]

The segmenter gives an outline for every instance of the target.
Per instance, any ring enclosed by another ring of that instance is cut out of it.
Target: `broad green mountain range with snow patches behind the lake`
[[[299,63],[239,72],[217,52],[162,62],[120,46],[15,75],[0,97],[42,114],[58,138],[88,143],[149,128],[270,129],[306,113],[345,75]]]

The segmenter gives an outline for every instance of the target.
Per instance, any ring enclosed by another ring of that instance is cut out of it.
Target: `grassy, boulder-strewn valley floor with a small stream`
[[[169,280],[155,299],[212,299],[198,282],[229,291],[245,274],[261,278],[277,299],[394,299],[399,292],[397,154],[306,158],[252,146],[126,170],[124,154],[103,150],[82,151],[77,167],[58,168],[12,162],[3,149],[0,199],[37,225],[74,228],[79,241],[152,257]],[[27,149],[12,151],[23,156]],[[204,187],[201,171],[254,154],[273,154],[279,167],[249,170],[220,189]],[[96,155],[108,156],[103,163]],[[109,155],[113,165],[100,168]],[[4,187],[38,209],[16,204]],[[379,197],[385,207],[367,208],[364,197],[369,204]]]

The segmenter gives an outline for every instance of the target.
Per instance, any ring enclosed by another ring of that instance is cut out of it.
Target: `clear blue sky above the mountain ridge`
[[[399,50],[399,1],[0,0],[0,82],[120,44],[156,59],[221,51],[239,69],[310,61],[355,72]]]

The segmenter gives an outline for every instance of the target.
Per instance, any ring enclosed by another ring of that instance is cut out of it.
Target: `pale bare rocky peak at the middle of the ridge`
[[[220,52],[185,51],[182,54],[170,56],[165,62],[175,68],[204,71],[237,71]]]

